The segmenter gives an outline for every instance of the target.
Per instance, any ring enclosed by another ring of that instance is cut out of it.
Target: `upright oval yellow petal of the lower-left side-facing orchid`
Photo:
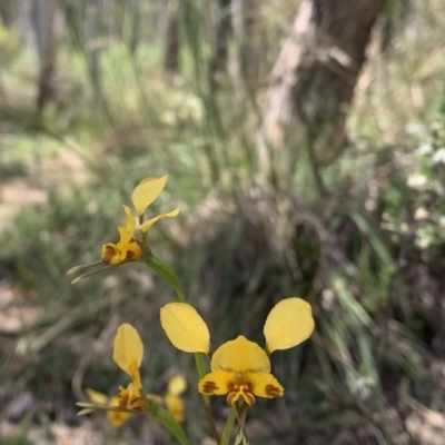
[[[115,337],[112,359],[132,379],[144,356],[144,345],[138,332],[128,323],[119,326]]]

